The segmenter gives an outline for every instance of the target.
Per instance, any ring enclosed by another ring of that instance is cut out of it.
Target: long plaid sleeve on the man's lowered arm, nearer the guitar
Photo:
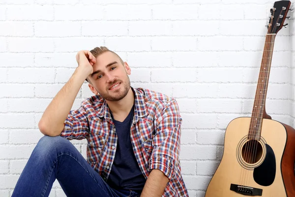
[[[177,101],[173,99],[158,117],[156,133],[152,139],[149,170],[159,169],[169,180],[178,165],[181,122]]]

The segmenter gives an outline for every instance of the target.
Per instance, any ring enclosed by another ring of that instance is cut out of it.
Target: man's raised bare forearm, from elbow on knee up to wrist
[[[56,136],[63,130],[63,123],[69,114],[74,100],[87,76],[77,67],[68,82],[50,102],[38,124],[43,134]]]

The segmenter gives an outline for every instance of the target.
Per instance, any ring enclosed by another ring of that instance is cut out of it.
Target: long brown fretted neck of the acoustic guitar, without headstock
[[[275,36],[275,33],[266,34],[266,41],[252,109],[248,139],[260,140]]]

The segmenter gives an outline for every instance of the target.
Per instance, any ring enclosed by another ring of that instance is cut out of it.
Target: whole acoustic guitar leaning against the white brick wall
[[[274,39],[291,2],[280,0],[271,16],[251,117],[232,120],[224,138],[222,160],[206,197],[295,197],[295,130],[266,114],[266,92]]]

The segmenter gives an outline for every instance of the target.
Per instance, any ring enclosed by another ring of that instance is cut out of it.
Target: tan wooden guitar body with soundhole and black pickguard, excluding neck
[[[295,130],[263,119],[261,139],[249,141],[250,122],[241,117],[228,125],[223,157],[206,197],[295,197]]]

